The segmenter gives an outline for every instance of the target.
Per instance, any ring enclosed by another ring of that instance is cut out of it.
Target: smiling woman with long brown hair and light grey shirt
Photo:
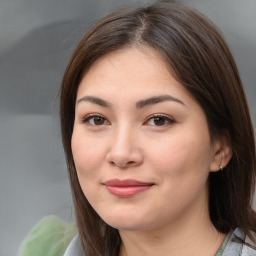
[[[101,19],[63,77],[68,255],[256,255],[253,127],[217,29],[175,3]]]

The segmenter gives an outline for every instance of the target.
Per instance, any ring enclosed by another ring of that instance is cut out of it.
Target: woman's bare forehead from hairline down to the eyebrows
[[[195,107],[193,96],[172,75],[160,53],[149,47],[127,47],[95,61],[79,84],[77,100],[89,95],[134,105],[166,94]]]

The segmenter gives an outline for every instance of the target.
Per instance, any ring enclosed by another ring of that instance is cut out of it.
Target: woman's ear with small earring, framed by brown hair
[[[228,139],[224,136],[216,139],[213,143],[213,155],[210,164],[210,171],[217,172],[222,168],[224,169],[228,165],[231,158],[232,149]]]

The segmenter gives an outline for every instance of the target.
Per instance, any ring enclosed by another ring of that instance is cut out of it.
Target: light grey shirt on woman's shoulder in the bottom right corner
[[[256,234],[251,232],[251,240],[241,229],[231,234],[222,256],[256,256]]]

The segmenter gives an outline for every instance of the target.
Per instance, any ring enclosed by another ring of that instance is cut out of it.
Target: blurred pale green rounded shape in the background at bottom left
[[[76,233],[74,224],[54,215],[44,217],[21,245],[20,256],[62,256]]]

